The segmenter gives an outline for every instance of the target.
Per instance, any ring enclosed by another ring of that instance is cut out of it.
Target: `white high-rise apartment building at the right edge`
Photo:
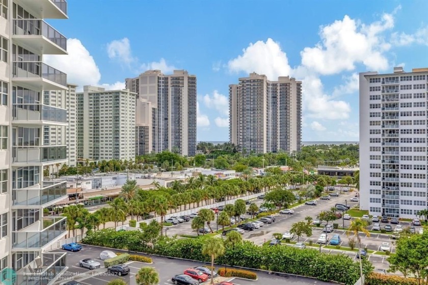
[[[428,68],[360,73],[360,208],[415,218],[426,209]]]

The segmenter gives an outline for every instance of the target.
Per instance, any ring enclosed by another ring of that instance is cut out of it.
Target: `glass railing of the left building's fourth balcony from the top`
[[[14,104],[13,120],[67,123],[67,110],[43,104]]]

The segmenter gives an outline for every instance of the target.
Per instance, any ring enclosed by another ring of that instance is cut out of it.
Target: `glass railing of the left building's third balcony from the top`
[[[42,62],[14,62],[13,77],[37,78],[67,86],[67,75]]]

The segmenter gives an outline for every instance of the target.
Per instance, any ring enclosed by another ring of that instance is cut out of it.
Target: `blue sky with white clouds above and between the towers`
[[[427,1],[68,0],[48,20],[81,86],[124,87],[147,69],[198,80],[198,140],[228,140],[228,85],[249,72],[303,81],[303,140],[358,140],[358,72],[428,67]]]

